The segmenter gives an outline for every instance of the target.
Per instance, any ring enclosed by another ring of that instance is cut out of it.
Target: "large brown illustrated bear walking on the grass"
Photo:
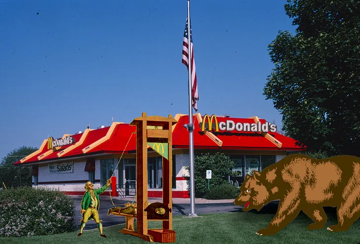
[[[322,229],[327,217],[323,207],[337,207],[338,224],[327,230],[347,231],[360,217],[360,158],[336,156],[313,159],[303,154],[286,156],[261,173],[247,174],[234,201],[243,211],[260,210],[280,200],[278,211],[267,228],[257,235],[274,235],[302,210],[315,223],[307,229]]]

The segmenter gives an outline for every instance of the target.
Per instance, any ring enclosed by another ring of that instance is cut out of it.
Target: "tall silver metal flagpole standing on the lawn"
[[[188,71],[189,71],[189,157],[190,157],[190,213],[189,216],[197,216],[195,213],[195,180],[194,180],[194,135],[193,135],[193,121],[192,121],[192,85],[191,85],[191,32],[190,32],[190,0],[187,0],[187,38],[188,38]]]

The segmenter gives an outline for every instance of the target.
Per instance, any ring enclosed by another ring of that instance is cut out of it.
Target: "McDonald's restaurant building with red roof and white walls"
[[[173,198],[188,198],[189,118],[176,114],[173,130]],[[252,170],[261,171],[289,152],[301,151],[295,140],[276,132],[276,126],[259,119],[193,115],[194,154],[221,152],[235,163],[229,182],[239,186]],[[154,129],[154,128],[152,128]],[[156,128],[155,128],[156,129]],[[70,195],[83,195],[84,184],[94,188],[111,176],[112,194],[135,195],[136,126],[113,122],[111,126],[85,129],[73,135],[44,139],[39,149],[14,163],[33,166],[33,187],[46,186]],[[161,143],[148,146],[148,197],[162,197]],[[121,157],[121,155],[123,155]],[[119,160],[121,158],[121,160]],[[204,173],[205,177],[205,173]],[[115,183],[116,182],[116,188]],[[110,194],[110,191],[104,194]],[[114,196],[114,195],[113,195]]]

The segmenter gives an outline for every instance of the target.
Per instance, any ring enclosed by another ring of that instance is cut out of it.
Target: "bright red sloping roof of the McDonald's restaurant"
[[[178,123],[173,127],[173,146],[174,148],[188,148],[189,133],[183,125],[188,124],[189,116],[177,114],[175,119],[178,120]],[[201,116],[200,113],[193,116],[195,149],[221,148],[230,150],[303,150],[299,146],[295,145],[294,139],[283,136],[277,132],[269,132],[268,134],[279,141],[281,146],[272,142],[271,140],[273,140],[273,138],[269,136],[266,138],[258,132],[238,132],[236,130],[226,132],[202,132],[200,122],[202,122],[203,119],[204,117]],[[257,117],[256,119],[216,117],[216,119],[218,123],[225,122],[226,120],[232,120],[235,124],[238,122],[252,124],[255,123]],[[261,124],[266,122],[264,119],[259,119],[259,121]],[[97,155],[101,153],[121,154],[124,150],[124,153],[133,152],[136,150],[135,132],[136,126],[113,122],[109,127],[97,130],[85,130],[84,133],[72,135],[75,139],[75,143],[62,146],[56,151],[47,149],[47,140],[45,139],[39,150],[14,164],[54,161],[56,159]],[[65,136],[69,135],[64,135],[64,137]],[[42,156],[42,158],[40,157],[40,159],[38,159],[39,156]]]

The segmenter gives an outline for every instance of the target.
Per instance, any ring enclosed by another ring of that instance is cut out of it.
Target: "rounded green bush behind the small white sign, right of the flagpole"
[[[208,191],[207,170],[211,170],[212,175],[209,186],[212,188],[228,183],[225,178],[232,174],[232,168],[234,166],[234,162],[229,160],[223,153],[206,153],[196,156],[194,160],[195,197],[202,198]]]

